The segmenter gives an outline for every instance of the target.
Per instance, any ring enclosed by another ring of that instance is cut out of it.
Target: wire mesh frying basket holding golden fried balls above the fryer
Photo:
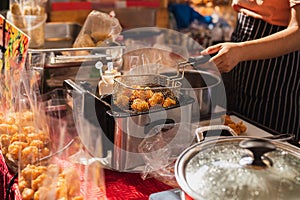
[[[147,112],[178,104],[181,83],[159,74],[115,77],[113,103],[126,112]],[[137,107],[135,107],[135,105]]]

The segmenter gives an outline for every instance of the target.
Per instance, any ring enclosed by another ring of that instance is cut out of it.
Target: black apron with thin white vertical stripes
[[[239,13],[232,41],[258,39],[285,28]],[[299,141],[300,51],[240,62],[230,77],[228,108],[279,133],[293,133]]]

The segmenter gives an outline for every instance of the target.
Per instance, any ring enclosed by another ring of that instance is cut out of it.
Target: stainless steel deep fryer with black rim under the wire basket
[[[65,80],[65,86],[73,98],[75,119],[80,120],[82,116],[101,130],[104,153],[101,161],[106,167],[114,170],[141,171],[143,169],[144,160],[138,151],[138,145],[152,128],[162,124],[191,123],[194,99],[189,96],[180,96],[179,104],[174,107],[144,113],[129,113],[115,109],[112,95],[98,96],[95,91],[90,91],[72,80]],[[86,126],[81,130],[87,129]],[[82,141],[87,141],[85,134],[87,133],[79,133]],[[97,157],[93,149],[99,145],[97,143],[99,133],[89,134],[90,139],[84,145]]]

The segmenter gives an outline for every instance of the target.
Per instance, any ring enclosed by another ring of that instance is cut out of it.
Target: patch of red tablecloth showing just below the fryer
[[[105,170],[105,185],[108,200],[148,200],[152,193],[172,189],[153,178],[143,180],[139,173],[111,170]]]

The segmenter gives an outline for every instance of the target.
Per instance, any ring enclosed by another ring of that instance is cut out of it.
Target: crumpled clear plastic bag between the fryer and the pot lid
[[[143,179],[154,177],[172,186],[179,187],[174,166],[177,157],[195,141],[196,126],[190,123],[163,124],[154,127],[139,145],[145,162]]]

